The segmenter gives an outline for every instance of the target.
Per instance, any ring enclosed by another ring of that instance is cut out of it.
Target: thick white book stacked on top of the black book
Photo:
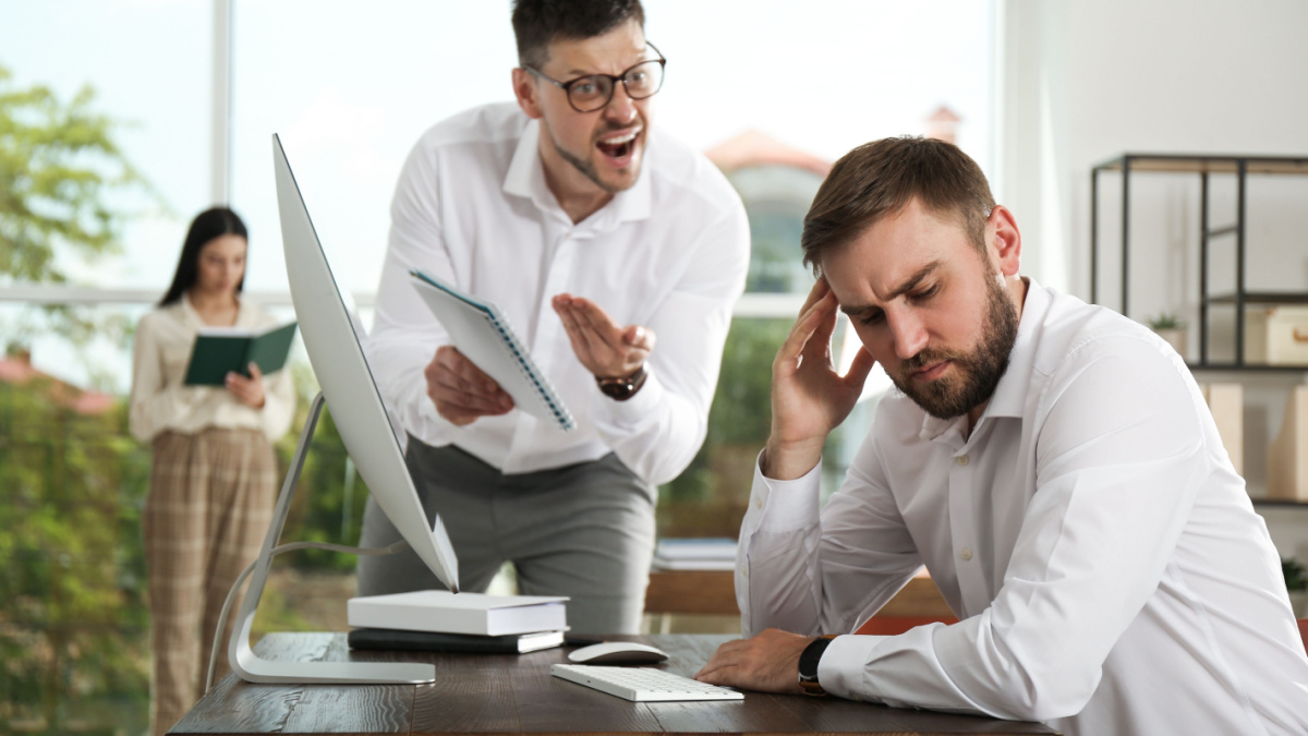
[[[345,616],[356,627],[500,636],[568,629],[566,600],[415,591],[349,598]]]

